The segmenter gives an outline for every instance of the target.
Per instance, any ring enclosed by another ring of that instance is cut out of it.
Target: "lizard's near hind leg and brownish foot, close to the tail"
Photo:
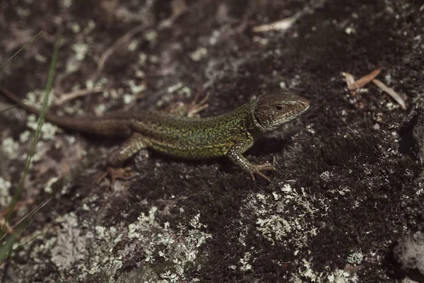
[[[132,134],[119,149],[113,151],[110,157],[107,158],[108,167],[106,172],[98,178],[98,183],[107,175],[110,175],[110,187],[113,187],[114,181],[117,179],[129,180],[134,178],[135,174],[131,172],[131,168],[122,168],[122,166],[131,156],[146,148],[146,138],[139,133]]]

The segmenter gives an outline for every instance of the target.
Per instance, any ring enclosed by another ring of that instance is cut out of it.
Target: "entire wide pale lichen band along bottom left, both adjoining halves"
[[[138,261],[140,282],[196,282],[185,272],[201,267],[205,256],[201,246],[211,237],[204,232],[207,227],[200,214],[171,229],[168,222],[156,218],[157,212],[152,207],[148,214],[142,213],[127,226],[127,233],[120,225],[93,225],[85,214],[64,214],[22,238],[20,244],[28,244],[16,256],[29,256],[35,272],[54,266],[61,278],[71,276],[75,282],[86,282],[90,275],[101,277],[102,282],[129,282],[132,269],[122,270],[126,260]]]

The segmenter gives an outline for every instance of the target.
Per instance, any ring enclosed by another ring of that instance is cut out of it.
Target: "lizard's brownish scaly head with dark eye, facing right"
[[[290,91],[278,91],[257,98],[254,117],[265,132],[272,132],[302,115],[309,107],[306,98]]]

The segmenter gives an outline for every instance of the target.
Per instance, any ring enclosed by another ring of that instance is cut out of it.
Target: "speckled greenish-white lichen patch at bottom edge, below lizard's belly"
[[[206,225],[200,222],[200,214],[196,214],[189,224],[179,224],[174,231],[169,224],[158,222],[156,212],[157,208],[152,207],[148,215],[142,213],[134,224],[128,226],[128,237],[137,240],[136,245],[146,255],[144,263],[152,270],[144,282],[187,280],[185,270],[193,265],[199,267],[196,264],[199,248],[211,235],[203,231]],[[126,250],[126,253],[131,252]]]

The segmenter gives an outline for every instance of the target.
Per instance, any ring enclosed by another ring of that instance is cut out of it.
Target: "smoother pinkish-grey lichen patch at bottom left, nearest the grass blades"
[[[73,212],[54,219],[54,227],[46,225],[20,241],[26,243],[23,252],[29,253],[33,270],[45,268],[49,258],[62,278],[71,275],[82,282],[88,275],[114,275],[122,267],[122,258],[112,253],[122,234],[113,227],[90,225]],[[42,241],[33,241],[36,237]],[[104,282],[115,281],[110,276]]]

